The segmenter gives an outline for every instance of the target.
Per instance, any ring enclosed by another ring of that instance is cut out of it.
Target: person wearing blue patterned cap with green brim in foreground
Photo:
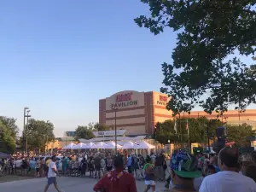
[[[172,154],[170,160],[172,192],[195,191],[194,179],[201,177],[198,170],[198,161],[193,154],[179,151]]]

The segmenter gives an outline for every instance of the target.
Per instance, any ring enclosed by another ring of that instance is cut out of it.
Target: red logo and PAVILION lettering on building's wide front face
[[[125,108],[137,106],[137,100],[132,98],[133,92],[119,94],[115,96],[115,103],[111,104],[111,108]]]

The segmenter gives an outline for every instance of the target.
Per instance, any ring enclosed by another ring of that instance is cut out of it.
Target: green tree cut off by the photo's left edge
[[[3,153],[12,154],[15,151],[15,137],[12,136],[13,132],[3,124],[0,120],[0,151]]]

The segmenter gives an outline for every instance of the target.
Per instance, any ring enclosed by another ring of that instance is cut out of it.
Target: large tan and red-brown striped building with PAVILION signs
[[[168,96],[159,92],[121,91],[99,101],[99,123],[112,127],[116,125],[117,129],[127,130],[126,135],[130,136],[151,135],[157,122],[173,119],[172,111],[166,109],[167,102]],[[206,116],[208,119],[216,119],[217,115],[194,111],[181,114],[181,118]],[[246,110],[244,113],[228,111],[219,119],[230,124],[247,123],[256,126],[256,110]]]

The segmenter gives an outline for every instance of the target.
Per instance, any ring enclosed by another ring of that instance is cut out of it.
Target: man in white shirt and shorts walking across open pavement
[[[44,192],[46,192],[49,188],[49,185],[51,184],[54,184],[55,185],[55,189],[58,191],[58,192],[61,192],[61,190],[58,188],[58,185],[57,185],[57,175],[58,175],[58,172],[57,172],[57,166],[55,164],[55,161],[56,161],[56,156],[52,156],[51,158],[51,162],[49,163],[49,171],[48,171],[48,182],[44,188]]]

